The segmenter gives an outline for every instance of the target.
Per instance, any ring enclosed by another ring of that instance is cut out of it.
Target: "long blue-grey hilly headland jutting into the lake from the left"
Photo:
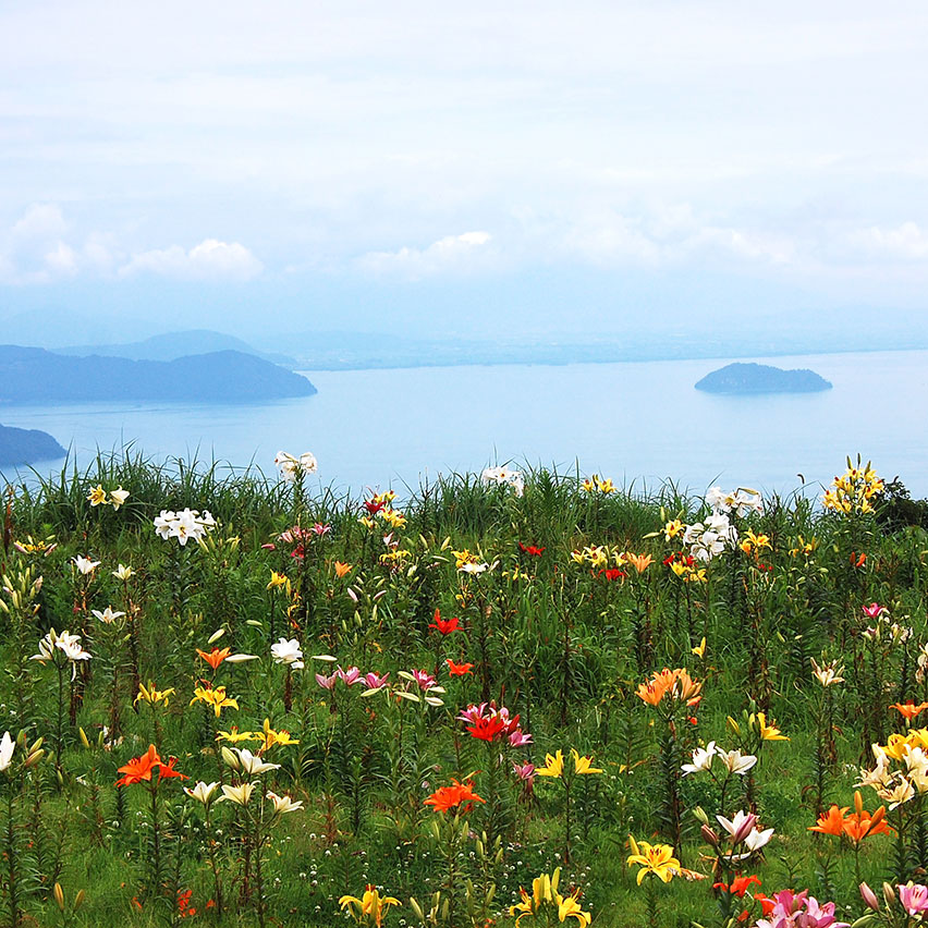
[[[0,403],[237,403],[309,396],[315,392],[305,377],[237,351],[164,362],[97,355],[70,357],[44,349],[0,345]]]

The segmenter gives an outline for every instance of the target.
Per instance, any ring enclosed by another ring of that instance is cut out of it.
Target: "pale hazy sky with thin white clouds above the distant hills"
[[[3,3],[3,341],[921,320],[926,62],[921,0]]]

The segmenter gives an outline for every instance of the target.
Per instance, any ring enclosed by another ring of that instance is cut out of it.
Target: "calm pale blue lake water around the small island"
[[[764,358],[757,359],[764,363]],[[928,496],[928,352],[781,357],[834,384],[823,393],[717,396],[693,389],[713,361],[313,371],[319,393],[248,406],[94,403],[16,406],[0,422],[40,428],[78,464],[129,442],[155,457],[249,462],[312,451],[319,478],[396,489],[488,463],[555,464],[616,484],[673,477],[792,490],[828,483],[844,456],[871,457]],[[60,469],[61,462],[37,465]],[[10,475],[8,475],[10,476]]]

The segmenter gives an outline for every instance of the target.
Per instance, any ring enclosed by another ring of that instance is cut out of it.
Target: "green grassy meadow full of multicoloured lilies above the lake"
[[[928,920],[898,480],[274,463],[7,488],[0,925]]]

